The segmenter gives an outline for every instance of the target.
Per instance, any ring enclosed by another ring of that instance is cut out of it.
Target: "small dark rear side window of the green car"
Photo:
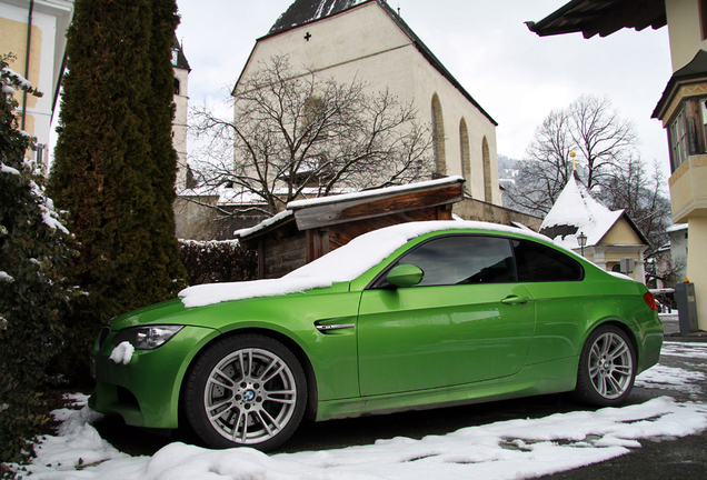
[[[572,258],[549,247],[529,241],[512,240],[518,281],[578,281],[585,271]]]

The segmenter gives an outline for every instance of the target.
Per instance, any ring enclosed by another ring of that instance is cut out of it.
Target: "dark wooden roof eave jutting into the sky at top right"
[[[623,28],[657,30],[667,23],[665,0],[572,0],[538,22],[526,22],[540,37],[581,32],[587,39]]]

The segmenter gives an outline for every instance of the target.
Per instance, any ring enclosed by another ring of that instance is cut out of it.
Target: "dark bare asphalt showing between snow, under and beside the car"
[[[666,331],[677,332],[677,323],[666,321]],[[707,341],[707,337],[667,337],[666,341],[690,344]],[[705,343],[701,343],[705,344]],[[663,356],[660,363],[668,367],[699,371],[707,374],[707,359],[690,359]],[[643,403],[651,398],[669,396],[679,402],[697,401],[707,403],[707,384],[686,392],[674,389],[651,389],[635,387],[629,403]],[[467,407],[405,412],[359,419],[333,420],[315,423],[305,421],[295,436],[276,452],[325,450],[349,446],[369,444],[381,438],[408,437],[420,439],[428,434],[445,434],[464,427],[474,427],[502,420],[541,418],[558,412],[586,409],[577,404],[569,394],[552,394],[527,399],[481,403]],[[131,454],[153,454],[172,441],[201,444],[188,431],[173,432],[171,437],[142,433],[126,427],[116,418],[104,419],[96,424],[102,438],[116,448]],[[552,479],[707,479],[707,431],[681,439],[641,440],[640,449],[631,449],[629,454],[594,466],[555,473],[542,478]]]

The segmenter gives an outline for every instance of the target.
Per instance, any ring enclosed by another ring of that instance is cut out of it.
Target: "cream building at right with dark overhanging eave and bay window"
[[[667,130],[673,221],[689,226],[687,278],[707,330],[707,0],[572,0],[527,24],[539,36],[585,38],[668,27],[674,73],[653,117]]]

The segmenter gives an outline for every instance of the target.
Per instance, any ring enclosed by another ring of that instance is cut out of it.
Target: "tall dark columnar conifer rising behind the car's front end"
[[[69,276],[86,292],[69,326],[67,368],[86,367],[107,320],[183,286],[167,193],[176,156],[163,140],[173,114],[165,84],[172,84],[175,11],[175,0],[74,3],[50,177],[79,242]]]

